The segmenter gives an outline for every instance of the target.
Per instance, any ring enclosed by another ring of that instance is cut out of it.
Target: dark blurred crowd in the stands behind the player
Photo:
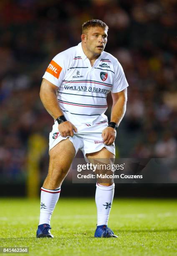
[[[105,51],[129,83],[117,156],[176,157],[175,10],[176,0],[1,0],[1,180],[23,180],[33,149],[45,177],[53,119],[40,102],[41,78],[53,56],[80,42],[82,23],[93,18],[109,26]]]

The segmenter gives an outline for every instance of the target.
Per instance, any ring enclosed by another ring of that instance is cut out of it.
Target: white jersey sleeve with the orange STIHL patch
[[[57,54],[48,65],[43,78],[59,87],[64,79],[65,73],[63,56],[61,54]]]

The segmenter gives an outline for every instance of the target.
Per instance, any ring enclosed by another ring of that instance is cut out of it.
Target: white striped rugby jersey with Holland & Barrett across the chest
[[[43,78],[58,86],[57,98],[66,119],[83,131],[108,121],[108,93],[128,87],[119,61],[103,51],[93,67],[81,43],[57,54]]]

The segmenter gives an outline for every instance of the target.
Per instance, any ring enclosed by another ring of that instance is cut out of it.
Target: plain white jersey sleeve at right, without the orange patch
[[[114,74],[114,82],[113,82],[113,86],[111,89],[111,92],[121,92],[122,90],[124,90],[126,87],[129,86],[129,84],[126,81],[126,77],[124,74],[124,70],[121,66],[121,64],[119,63],[119,61],[117,61],[117,69],[116,72]]]

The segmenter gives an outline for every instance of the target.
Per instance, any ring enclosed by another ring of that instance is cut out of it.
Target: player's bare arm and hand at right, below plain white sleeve
[[[111,122],[120,124],[126,111],[127,90],[111,93],[113,105],[111,110]],[[102,132],[103,141],[106,145],[111,145],[116,138],[116,130],[111,127],[106,127]]]

